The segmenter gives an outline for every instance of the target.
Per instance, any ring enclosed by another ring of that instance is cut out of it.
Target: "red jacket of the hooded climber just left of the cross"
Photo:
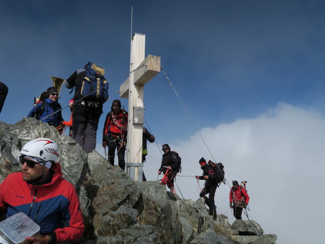
[[[119,113],[113,113],[110,111],[105,119],[103,129],[103,141],[106,140],[108,132],[115,135],[121,135],[127,132],[127,112],[125,111],[125,118],[123,116],[123,110],[120,109]]]

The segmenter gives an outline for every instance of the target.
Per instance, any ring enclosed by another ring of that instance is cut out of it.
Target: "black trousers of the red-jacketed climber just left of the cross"
[[[107,138],[107,146],[108,146],[108,162],[114,166],[114,158],[115,158],[115,149],[117,148],[117,158],[118,158],[118,166],[122,170],[125,170],[125,149],[126,149],[126,136],[124,141],[115,136],[110,136]]]

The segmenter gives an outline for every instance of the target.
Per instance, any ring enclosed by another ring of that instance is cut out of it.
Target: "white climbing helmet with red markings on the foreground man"
[[[57,162],[59,157],[59,147],[49,138],[37,138],[28,141],[20,151],[21,155],[41,158],[44,161]]]

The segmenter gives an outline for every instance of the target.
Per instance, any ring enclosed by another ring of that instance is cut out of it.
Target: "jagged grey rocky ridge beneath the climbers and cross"
[[[96,151],[86,154],[68,136],[34,118],[0,121],[0,182],[21,170],[18,157],[29,140],[47,137],[60,150],[63,177],[76,188],[86,231],[79,243],[275,243],[256,222],[226,216],[213,221],[204,199],[183,200],[157,181],[136,182]],[[251,227],[254,226],[254,228]]]

